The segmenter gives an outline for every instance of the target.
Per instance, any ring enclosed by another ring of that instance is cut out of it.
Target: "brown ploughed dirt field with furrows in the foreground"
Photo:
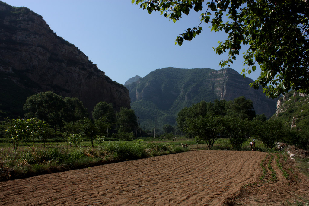
[[[282,162],[288,179],[273,160],[277,179],[267,183],[267,169],[260,184],[266,154],[198,150],[1,182],[0,205],[294,205],[309,200],[309,180],[290,158]]]

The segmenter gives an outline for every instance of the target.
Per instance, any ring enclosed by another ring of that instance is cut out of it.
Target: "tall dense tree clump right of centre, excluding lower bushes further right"
[[[252,132],[255,117],[252,101],[244,97],[234,101],[215,100],[214,103],[201,101],[184,107],[177,117],[177,124],[189,137],[203,139],[211,149],[219,137],[230,139],[235,149],[240,149]]]

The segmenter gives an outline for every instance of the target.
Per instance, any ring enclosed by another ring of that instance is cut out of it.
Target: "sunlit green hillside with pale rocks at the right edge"
[[[309,125],[309,96],[289,91],[278,99],[277,110],[272,118],[282,120],[291,128],[307,129]]]

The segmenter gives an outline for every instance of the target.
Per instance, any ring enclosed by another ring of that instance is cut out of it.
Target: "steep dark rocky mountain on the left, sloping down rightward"
[[[22,116],[26,98],[40,91],[77,97],[89,112],[100,101],[130,108],[125,86],[57,36],[42,16],[0,1],[0,111]]]

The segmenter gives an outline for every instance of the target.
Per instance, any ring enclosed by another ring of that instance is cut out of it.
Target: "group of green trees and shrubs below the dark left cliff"
[[[15,142],[15,150],[20,141],[28,142],[28,136],[32,137],[32,142],[59,139],[69,140],[70,145],[78,137],[91,140],[93,147],[97,136],[107,137],[107,140],[112,140],[108,137],[132,140],[133,133],[139,131],[142,134],[134,111],[122,107],[119,112],[115,112],[111,103],[99,102],[92,111],[94,119],[90,119],[87,109],[77,98],[63,98],[48,91],[29,96],[24,110],[28,119],[6,119],[0,127],[0,137],[4,137],[6,134],[3,130],[7,130],[11,142]],[[30,135],[28,130],[32,129],[34,121],[46,123],[43,134]]]

